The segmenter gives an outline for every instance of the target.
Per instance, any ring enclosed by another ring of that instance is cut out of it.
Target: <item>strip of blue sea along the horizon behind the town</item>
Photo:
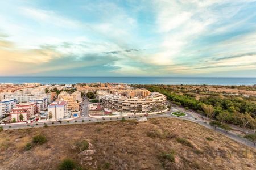
[[[199,78],[199,77],[0,77],[0,83],[128,83],[128,84],[209,84],[209,85],[254,85],[256,78]]]

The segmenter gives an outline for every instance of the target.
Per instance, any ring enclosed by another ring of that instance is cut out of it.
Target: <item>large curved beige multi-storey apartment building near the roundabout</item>
[[[166,96],[158,92],[152,92],[145,97],[108,94],[102,96],[102,105],[112,113],[160,113],[167,109]]]

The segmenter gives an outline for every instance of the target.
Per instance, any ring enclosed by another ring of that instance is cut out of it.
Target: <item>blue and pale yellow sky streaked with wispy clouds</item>
[[[256,1],[0,1],[0,76],[256,77]]]

